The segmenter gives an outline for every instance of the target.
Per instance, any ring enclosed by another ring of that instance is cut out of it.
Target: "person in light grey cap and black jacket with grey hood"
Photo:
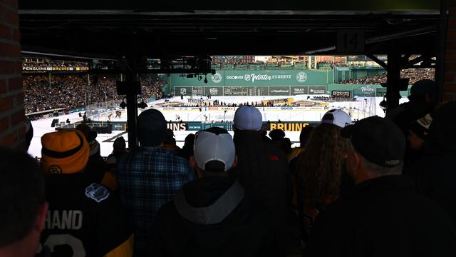
[[[236,181],[232,137],[199,131],[190,165],[198,178],[160,208],[150,232],[151,256],[276,256],[274,223]]]

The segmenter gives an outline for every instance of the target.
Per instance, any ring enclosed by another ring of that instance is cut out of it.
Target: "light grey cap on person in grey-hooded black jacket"
[[[235,155],[233,138],[229,133],[198,131],[195,134],[193,156],[199,168],[206,170],[209,161],[220,161],[224,164],[224,171],[228,171],[233,165]]]

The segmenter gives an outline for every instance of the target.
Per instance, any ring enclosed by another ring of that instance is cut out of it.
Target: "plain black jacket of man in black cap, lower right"
[[[316,218],[305,256],[456,256],[456,231],[406,176],[359,183]]]

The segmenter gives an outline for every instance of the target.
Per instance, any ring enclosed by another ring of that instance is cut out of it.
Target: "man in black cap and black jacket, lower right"
[[[350,140],[346,167],[356,188],[316,218],[306,256],[455,256],[450,217],[400,176],[400,129],[373,116],[341,134]]]

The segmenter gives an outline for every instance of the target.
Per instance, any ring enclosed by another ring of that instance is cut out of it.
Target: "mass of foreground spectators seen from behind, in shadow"
[[[254,106],[183,148],[148,109],[108,163],[86,124],[43,135],[39,166],[0,148],[0,256],[455,256],[456,101],[434,89],[385,118],[327,111],[299,148]]]

